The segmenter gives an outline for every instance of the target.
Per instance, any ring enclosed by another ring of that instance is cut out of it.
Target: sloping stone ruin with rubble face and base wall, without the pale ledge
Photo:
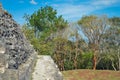
[[[36,52],[0,4],[0,80],[30,80]]]

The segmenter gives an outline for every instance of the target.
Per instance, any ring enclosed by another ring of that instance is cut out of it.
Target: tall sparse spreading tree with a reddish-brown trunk
[[[94,53],[93,69],[95,70],[98,61],[100,44],[103,40],[102,36],[109,27],[108,19],[106,16],[84,16],[81,20],[78,21],[78,24],[89,41],[89,48],[91,48]]]

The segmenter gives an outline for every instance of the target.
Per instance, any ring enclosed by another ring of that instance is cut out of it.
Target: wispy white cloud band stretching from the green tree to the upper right
[[[52,6],[57,9],[59,15],[69,21],[80,19],[83,15],[90,14],[96,10],[104,9],[114,3],[117,3],[118,0],[94,0],[88,1],[85,3],[76,4],[52,4]]]

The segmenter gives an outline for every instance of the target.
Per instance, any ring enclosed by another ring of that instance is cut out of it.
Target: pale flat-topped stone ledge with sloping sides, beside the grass
[[[63,80],[63,76],[50,56],[38,56],[32,80]]]

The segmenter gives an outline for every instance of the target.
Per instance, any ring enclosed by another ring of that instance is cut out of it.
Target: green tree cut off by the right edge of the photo
[[[104,39],[104,49],[110,57],[109,60],[114,70],[120,70],[120,18],[109,19],[110,28]]]

